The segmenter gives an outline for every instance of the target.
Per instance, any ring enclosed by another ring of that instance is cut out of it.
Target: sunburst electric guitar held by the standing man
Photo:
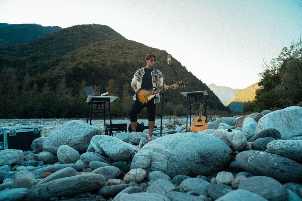
[[[180,88],[185,87],[185,82],[184,81],[180,81],[178,82],[178,86]],[[152,87],[151,89],[144,89],[144,88],[140,88],[140,93],[136,94],[136,98],[138,99],[138,101],[140,101],[141,105],[145,105],[148,103],[148,101],[150,101],[156,94],[162,92],[162,90],[168,90],[168,89],[172,89],[175,88],[173,85],[166,87],[164,89],[159,89],[157,90],[156,87]]]

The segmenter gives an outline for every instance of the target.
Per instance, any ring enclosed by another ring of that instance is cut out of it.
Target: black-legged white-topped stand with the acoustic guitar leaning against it
[[[201,98],[202,103],[204,103],[204,96],[207,95],[207,91],[190,91],[190,92],[180,92],[180,94],[187,97],[187,123],[186,123],[186,131],[188,131],[188,106],[190,107],[190,125],[191,125],[191,105],[200,105],[200,103],[197,103],[198,98]],[[191,103],[191,98],[194,98],[194,103]],[[207,123],[207,112],[206,112],[206,106],[204,104],[204,115],[206,117],[206,123]]]

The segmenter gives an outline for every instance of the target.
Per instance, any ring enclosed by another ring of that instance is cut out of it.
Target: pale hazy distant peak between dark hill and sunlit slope
[[[226,105],[230,100],[232,100],[234,93],[239,89],[232,89],[230,87],[217,86],[215,84],[210,84],[208,87],[218,96],[222,104]]]

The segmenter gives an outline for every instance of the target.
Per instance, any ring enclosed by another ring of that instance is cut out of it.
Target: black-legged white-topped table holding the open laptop
[[[110,134],[112,136],[112,121],[111,121],[111,110],[110,103],[112,103],[117,96],[88,96],[86,102],[88,103],[88,117],[87,123],[89,120],[89,112],[90,112],[90,125],[92,120],[92,113],[104,113],[104,133],[106,133],[106,113],[105,110],[109,110],[110,117]],[[105,104],[108,103],[108,109],[105,109]],[[91,108],[90,108],[91,105]],[[96,108],[93,108],[93,105],[96,105]],[[98,108],[98,105],[103,105],[103,107]],[[90,110],[90,111],[89,111]]]

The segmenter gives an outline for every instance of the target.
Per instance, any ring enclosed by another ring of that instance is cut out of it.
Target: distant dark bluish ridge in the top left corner
[[[28,43],[47,34],[61,30],[61,27],[43,27],[39,24],[0,23],[0,47]]]

